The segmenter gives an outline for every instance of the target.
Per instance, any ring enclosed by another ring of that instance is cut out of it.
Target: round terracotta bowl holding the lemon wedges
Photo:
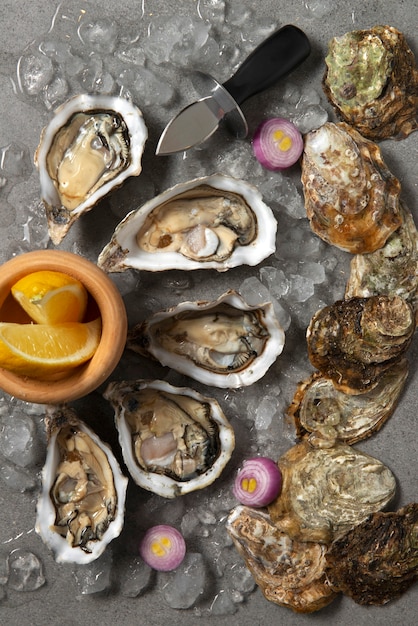
[[[39,250],[0,266],[1,322],[28,321],[10,290],[20,278],[39,270],[64,272],[83,283],[89,294],[86,321],[98,315],[102,319],[100,344],[90,361],[56,380],[23,377],[0,368],[0,389],[27,402],[59,404],[87,395],[110,376],[125,347],[127,316],[119,291],[94,263],[71,252]]]

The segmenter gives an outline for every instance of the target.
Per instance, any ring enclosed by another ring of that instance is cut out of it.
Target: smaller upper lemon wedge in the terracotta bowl
[[[84,285],[62,272],[32,272],[13,285],[11,291],[38,324],[81,322],[87,307]]]

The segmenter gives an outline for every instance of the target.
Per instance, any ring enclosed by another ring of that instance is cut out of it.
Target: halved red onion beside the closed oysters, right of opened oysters
[[[272,459],[256,457],[244,461],[234,486],[235,498],[246,506],[263,507],[277,498],[282,488],[282,474]]]

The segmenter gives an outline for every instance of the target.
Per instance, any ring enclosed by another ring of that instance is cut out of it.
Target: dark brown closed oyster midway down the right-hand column
[[[337,388],[363,393],[401,359],[414,331],[413,309],[399,296],[338,300],[313,316],[308,356]]]

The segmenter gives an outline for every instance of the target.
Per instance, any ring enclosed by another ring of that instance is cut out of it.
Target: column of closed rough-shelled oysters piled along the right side
[[[282,492],[227,521],[265,597],[301,613],[339,592],[385,604],[418,576],[418,504],[381,512],[395,477],[352,446],[390,417],[408,375],[418,233],[373,140],[416,129],[418,74],[403,35],[383,26],[333,39],[326,64],[325,93],[343,121],[304,138],[305,206],[312,230],[355,256],[345,299],[307,329],[316,371],[288,409],[299,442],[278,459]]]

